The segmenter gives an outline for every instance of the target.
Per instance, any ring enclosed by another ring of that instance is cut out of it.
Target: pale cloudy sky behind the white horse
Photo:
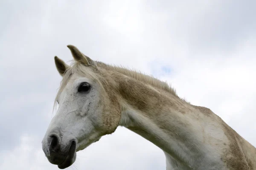
[[[76,45],[94,60],[172,83],[256,146],[255,0],[1,0],[0,169],[58,170],[41,149]],[[159,148],[119,127],[70,170],[165,170]]]

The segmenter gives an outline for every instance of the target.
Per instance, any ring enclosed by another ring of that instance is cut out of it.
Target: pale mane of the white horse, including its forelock
[[[135,69],[125,68],[122,65],[121,66],[109,65],[109,64],[106,64],[106,63],[100,62],[100,61],[96,61],[96,64],[99,68],[103,68],[105,70],[116,71],[120,74],[124,74],[125,76],[134,78],[138,81],[144,82],[148,85],[151,85],[155,88],[166,91],[166,92],[180,98],[177,95],[176,90],[174,88],[172,88],[171,84],[169,84],[167,82],[160,81],[159,79],[157,79],[153,76],[143,74],[142,72],[136,71]],[[54,106],[53,106],[54,108],[56,106],[57,99],[58,99],[59,95],[61,94],[61,91],[63,91],[63,89],[64,89],[65,85],[67,84],[68,80],[70,79],[71,75],[74,73],[86,75],[93,81],[98,82],[99,85],[104,90],[103,85],[102,85],[102,82],[104,83],[104,81],[100,81],[100,80],[103,80],[102,77],[100,77],[99,75],[96,76],[95,73],[90,71],[90,69],[86,69],[86,67],[84,65],[80,64],[79,62],[75,62],[75,61],[71,60],[71,65],[67,69],[67,71],[65,71],[65,74],[63,75],[63,79],[61,81],[61,85],[59,87],[58,93],[55,97]],[[186,99],[182,99],[182,100],[187,102]]]

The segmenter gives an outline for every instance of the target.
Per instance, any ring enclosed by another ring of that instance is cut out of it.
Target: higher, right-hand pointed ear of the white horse
[[[89,65],[96,65],[96,63],[90,59],[89,57],[87,57],[86,55],[84,55],[81,51],[79,51],[78,48],[76,48],[74,45],[67,45],[67,48],[70,49],[73,58],[77,61],[80,62],[83,65],[89,66]]]

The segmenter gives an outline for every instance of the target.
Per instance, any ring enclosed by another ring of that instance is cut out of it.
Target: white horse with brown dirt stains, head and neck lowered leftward
[[[42,141],[50,163],[69,167],[77,151],[124,126],[163,150],[167,170],[256,170],[256,148],[210,109],[180,99],[165,82],[67,47],[72,65],[54,58],[63,80]]]

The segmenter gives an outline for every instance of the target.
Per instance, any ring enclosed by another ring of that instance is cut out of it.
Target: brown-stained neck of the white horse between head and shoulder
[[[116,82],[122,105],[119,125],[157,145],[180,164],[195,167],[194,156],[199,158],[204,152],[195,137],[200,122],[189,116],[195,108],[173,94],[136,79],[119,75]]]

